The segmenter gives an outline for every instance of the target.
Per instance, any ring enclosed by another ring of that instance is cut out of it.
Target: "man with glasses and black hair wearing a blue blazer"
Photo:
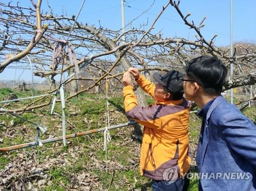
[[[185,71],[186,99],[197,103],[202,117],[199,190],[256,190],[256,127],[221,96],[227,68],[215,57],[201,56]]]

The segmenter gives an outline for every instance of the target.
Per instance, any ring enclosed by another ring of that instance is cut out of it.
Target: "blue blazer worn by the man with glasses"
[[[256,190],[256,127],[219,96],[201,128],[199,190]]]

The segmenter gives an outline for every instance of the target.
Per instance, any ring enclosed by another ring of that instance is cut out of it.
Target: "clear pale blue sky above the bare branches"
[[[42,0],[41,9],[48,11],[48,5],[51,6],[57,15],[67,14],[68,16],[77,15],[83,0]],[[9,2],[2,0],[1,2]],[[13,1],[15,3],[17,1]],[[29,0],[19,1],[22,6],[31,6]],[[36,0],[34,0],[36,2]],[[164,0],[126,0],[124,2],[125,24],[130,23],[125,30],[138,28],[147,23],[142,29],[147,30],[156,16],[168,1]],[[230,0],[181,0],[180,10],[184,15],[190,12],[188,21],[193,20],[195,25],[199,25],[202,18],[206,16],[205,27],[201,33],[206,40],[210,40],[215,34],[218,34],[215,45],[229,45],[230,43]],[[1,8],[1,7],[0,7]],[[150,9],[149,9],[150,8]],[[147,10],[149,9],[149,10]],[[146,11],[147,10],[147,11]],[[247,41],[256,43],[256,1],[255,0],[233,0],[233,41]],[[143,13],[146,11],[145,13]],[[143,14],[142,14],[143,13]],[[141,15],[142,14],[142,15]],[[78,21],[88,23],[89,25],[100,25],[103,28],[112,30],[121,29],[121,0],[86,0]],[[163,37],[184,37],[191,40],[195,39],[195,32],[184,25],[183,20],[177,11],[169,6],[158,19],[152,33],[161,32]],[[23,70],[16,71],[16,78]],[[30,71],[23,72],[20,79],[29,80]],[[6,69],[0,74],[0,80],[13,80],[13,69]],[[39,80],[39,77],[35,77]]]

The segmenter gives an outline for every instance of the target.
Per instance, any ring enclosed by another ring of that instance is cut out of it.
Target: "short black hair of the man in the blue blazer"
[[[190,60],[185,66],[190,80],[202,85],[204,92],[210,95],[220,94],[227,76],[226,66],[212,56],[200,56]]]

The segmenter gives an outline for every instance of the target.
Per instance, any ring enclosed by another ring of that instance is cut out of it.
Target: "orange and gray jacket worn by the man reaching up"
[[[136,81],[155,99],[154,83],[142,75]],[[154,180],[164,180],[166,172],[175,169],[178,177],[182,177],[188,172],[191,161],[188,149],[189,103],[181,99],[139,107],[133,86],[124,87],[123,96],[127,117],[144,125],[140,174]]]

